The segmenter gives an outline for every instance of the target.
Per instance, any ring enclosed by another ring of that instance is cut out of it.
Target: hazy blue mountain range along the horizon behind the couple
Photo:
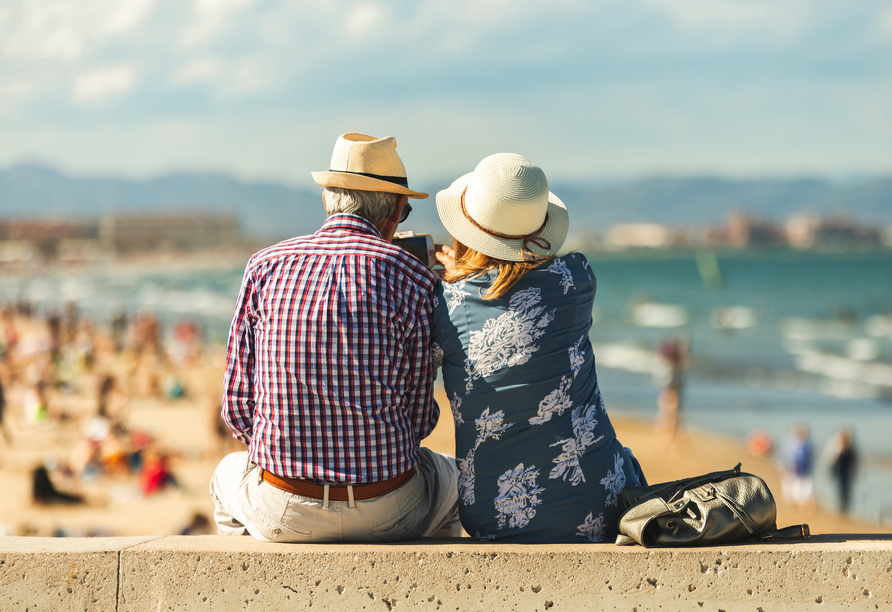
[[[444,238],[433,194],[420,189],[406,229]],[[572,231],[604,233],[619,222],[716,224],[732,212],[784,219],[797,212],[846,214],[862,223],[892,225],[892,178],[834,183],[819,178],[728,180],[654,178],[623,183],[556,182],[551,190],[570,209]],[[0,218],[91,218],[103,214],[221,211],[243,231],[273,240],[315,231],[324,220],[320,189],[249,183],[225,174],[168,174],[147,180],[75,178],[51,168],[20,165],[0,171]]]

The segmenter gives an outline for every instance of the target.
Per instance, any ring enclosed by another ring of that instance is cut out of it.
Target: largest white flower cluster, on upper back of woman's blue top
[[[466,394],[474,388],[475,380],[502,368],[522,365],[539,350],[534,342],[554,319],[554,310],[543,314],[545,307],[538,305],[540,301],[538,287],[518,291],[508,302],[508,312],[487,320],[482,330],[470,333],[465,359]]]

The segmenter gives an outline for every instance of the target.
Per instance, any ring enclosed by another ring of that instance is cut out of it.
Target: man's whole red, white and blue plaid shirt
[[[436,277],[361,217],[248,261],[229,331],[223,419],[260,467],[377,482],[418,463],[437,423]]]

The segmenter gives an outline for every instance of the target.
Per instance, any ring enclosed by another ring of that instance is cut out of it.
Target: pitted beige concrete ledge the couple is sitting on
[[[0,538],[0,610],[888,610],[892,535],[644,549]]]

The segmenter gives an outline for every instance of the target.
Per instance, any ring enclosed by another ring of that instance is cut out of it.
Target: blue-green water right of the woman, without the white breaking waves
[[[741,440],[761,428],[780,444],[794,425],[804,423],[819,455],[837,431],[851,428],[863,459],[854,512],[892,522],[892,375],[880,381],[885,384],[864,384],[857,377],[840,382],[797,363],[803,352],[836,358],[845,367],[892,363],[892,334],[878,335],[875,328],[877,320],[892,313],[892,254],[784,252],[716,259],[723,282],[710,288],[691,254],[590,256],[598,278],[598,321],[591,333],[596,358],[599,345],[652,351],[662,339],[689,338],[687,426]],[[688,322],[672,328],[636,325],[632,310],[644,299],[682,306]],[[714,311],[732,306],[751,308],[756,324],[717,329]],[[853,343],[866,343],[870,358],[852,359]],[[629,371],[635,365],[599,366],[605,401],[613,410],[654,416],[661,381]],[[746,463],[745,457],[741,460]],[[819,463],[815,477],[819,500],[834,508],[826,461]]]

